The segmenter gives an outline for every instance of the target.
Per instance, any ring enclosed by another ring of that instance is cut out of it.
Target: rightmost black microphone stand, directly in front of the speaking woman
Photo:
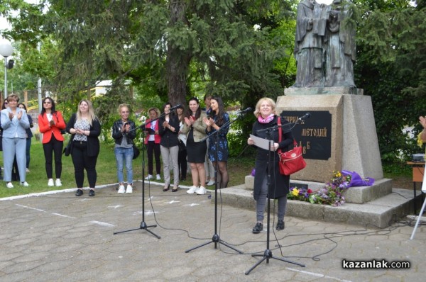
[[[281,118],[281,117],[278,115],[278,118]],[[300,119],[298,119],[294,124],[291,124],[291,123],[285,124],[285,126],[289,126],[289,127],[293,126],[287,132],[289,132],[292,128],[294,128],[295,125],[299,122],[299,120]],[[258,266],[259,264],[261,264],[265,260],[266,260],[266,264],[269,264],[269,259],[277,259],[278,261],[285,261],[285,262],[288,262],[290,264],[296,264],[298,266],[305,267],[305,264],[299,264],[298,262],[295,262],[295,261],[289,261],[287,259],[281,259],[279,257],[275,257],[275,256],[273,256],[271,249],[269,249],[269,242],[270,242],[269,237],[270,237],[270,233],[271,233],[270,232],[270,226],[269,226],[269,223],[271,221],[271,199],[270,199],[271,195],[269,195],[269,191],[271,189],[271,170],[274,171],[274,169],[270,169],[271,167],[273,168],[273,166],[274,166],[274,164],[271,164],[271,146],[273,145],[273,141],[274,141],[273,140],[273,130],[276,130],[277,128],[278,128],[278,125],[274,125],[271,128],[265,128],[263,130],[258,130],[258,132],[266,131],[266,136],[268,137],[269,148],[270,148],[268,150],[268,164],[266,165],[266,167],[268,168],[268,175],[267,175],[267,186],[268,186],[268,193],[267,193],[267,195],[268,195],[267,196],[268,208],[267,208],[267,210],[268,210],[268,215],[267,215],[267,221],[266,221],[266,225],[267,225],[267,227],[266,227],[266,250],[265,250],[265,252],[263,252],[263,254],[252,254],[251,255],[252,257],[262,256],[262,259],[260,261],[256,262],[256,264],[254,264],[251,267],[251,269],[246,271],[246,275],[249,275],[249,273],[253,269],[255,269],[256,266]],[[281,125],[281,128],[283,128],[283,125]],[[271,164],[271,166],[270,166],[270,164]]]

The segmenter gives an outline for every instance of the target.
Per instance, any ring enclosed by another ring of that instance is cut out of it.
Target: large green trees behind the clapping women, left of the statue
[[[108,101],[98,100],[102,115],[123,101],[127,79],[142,96],[161,101],[186,103],[190,95],[209,93],[246,107],[282,95],[292,83],[296,2],[13,0],[9,11],[19,13],[10,34],[33,48],[49,40],[43,46],[58,50],[47,64],[54,72],[38,69],[43,60],[28,67],[57,86],[62,101],[114,79]]]

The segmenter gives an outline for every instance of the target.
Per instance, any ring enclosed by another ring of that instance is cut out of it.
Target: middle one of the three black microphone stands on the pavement
[[[226,247],[229,247],[229,249],[233,249],[235,252],[238,252],[239,254],[243,254],[243,252],[239,251],[238,249],[232,247],[231,245],[229,245],[228,243],[222,241],[222,239],[220,239],[219,235],[217,234],[217,182],[219,180],[218,176],[217,176],[217,171],[218,169],[218,165],[219,165],[219,157],[218,157],[218,153],[217,153],[217,148],[218,148],[218,140],[219,140],[219,132],[226,127],[229,127],[229,125],[231,125],[231,123],[234,123],[236,120],[238,120],[241,117],[241,115],[239,115],[237,118],[235,118],[234,120],[229,120],[228,122],[224,123],[218,130],[216,130],[215,132],[213,132],[211,135],[204,137],[200,142],[207,140],[207,138],[214,136],[214,146],[216,148],[215,150],[215,157],[216,157],[216,166],[214,167],[214,178],[216,179],[215,183],[214,183],[214,235],[212,237],[212,240],[204,243],[204,244],[200,244],[197,247],[193,247],[192,249],[187,249],[185,251],[185,253],[189,253],[194,249],[198,249],[200,247],[206,246],[207,244],[211,244],[214,243],[214,249],[217,249],[217,244],[223,244]],[[208,150],[208,148],[207,148]],[[221,184],[222,184],[222,177],[221,177]]]

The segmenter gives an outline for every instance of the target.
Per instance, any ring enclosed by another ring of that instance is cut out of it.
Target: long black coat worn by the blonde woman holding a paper
[[[275,115],[275,118],[269,122],[269,123],[259,123],[257,120],[253,124],[253,135],[257,137],[261,137],[263,139],[271,140],[271,137],[268,137],[268,130],[264,130],[261,132],[258,132],[258,130],[263,130],[266,128],[271,128],[275,125],[278,125],[277,123],[277,116]],[[281,118],[281,124],[288,123],[285,118]],[[288,146],[293,144],[293,134],[292,132],[285,132],[288,130],[285,130],[286,128],[283,128],[283,137],[281,137],[281,142],[279,143],[279,148],[283,152],[288,151]],[[278,143],[278,127],[273,130],[273,141],[275,143]],[[269,152],[271,152],[271,156],[269,156]],[[271,159],[271,163],[268,165],[268,159]],[[271,185],[269,186],[268,190],[268,198],[280,198],[283,196],[286,196],[289,191],[290,186],[290,176],[280,174],[280,167],[278,165],[280,158],[278,157],[278,152],[275,151],[268,151],[261,148],[257,148],[257,154],[256,154],[256,173],[254,175],[254,192],[253,192],[253,198],[257,201],[259,193],[261,192],[261,186],[263,183],[263,179],[265,179],[268,174],[271,174]]]

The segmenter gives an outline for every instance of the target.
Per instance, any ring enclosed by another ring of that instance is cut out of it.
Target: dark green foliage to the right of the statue
[[[420,1],[418,1],[420,2]],[[426,9],[410,1],[356,1],[359,22],[356,85],[371,96],[382,159],[418,152],[404,135],[426,108]],[[362,6],[361,6],[362,5]]]

